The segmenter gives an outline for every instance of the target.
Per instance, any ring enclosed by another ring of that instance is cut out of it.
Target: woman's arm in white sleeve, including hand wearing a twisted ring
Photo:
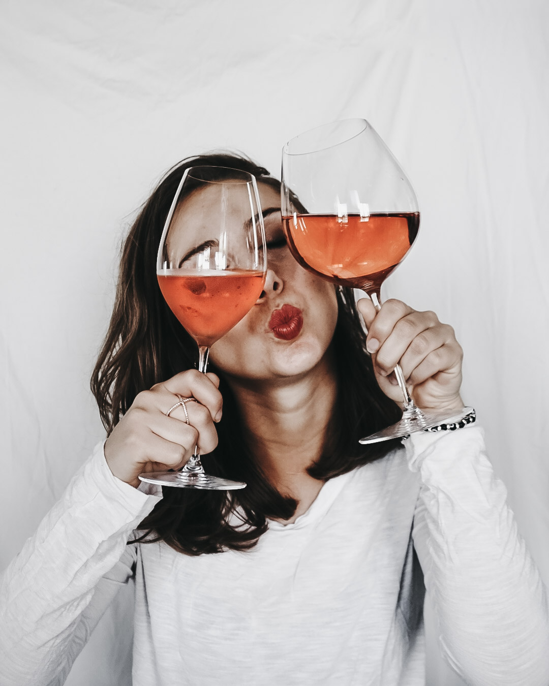
[[[213,421],[222,412],[218,384],[215,375],[187,370],[139,393],[25,543],[0,580],[2,686],[65,681],[132,573],[128,536],[159,501],[161,488],[142,484],[139,474],[178,469],[197,442],[202,453],[213,450]],[[165,414],[174,394],[199,401],[191,403],[190,421],[180,407]]]

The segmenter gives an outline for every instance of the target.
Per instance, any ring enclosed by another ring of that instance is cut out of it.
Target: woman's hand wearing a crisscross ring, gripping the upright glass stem
[[[137,488],[143,472],[182,467],[197,443],[200,453],[211,453],[218,445],[213,423],[222,414],[218,386],[215,374],[191,369],[139,393],[105,442],[105,458],[115,477]],[[189,424],[181,406],[169,417],[165,414],[178,401],[176,394],[198,401],[186,403]]]

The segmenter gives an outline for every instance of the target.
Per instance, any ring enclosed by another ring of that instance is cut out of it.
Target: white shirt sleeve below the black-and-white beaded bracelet
[[[482,429],[416,434],[405,444],[420,475],[413,539],[443,655],[472,686],[547,686],[546,589]]]

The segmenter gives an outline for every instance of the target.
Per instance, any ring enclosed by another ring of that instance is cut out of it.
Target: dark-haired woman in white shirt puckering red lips
[[[205,164],[257,176],[269,264],[206,377],[154,270],[183,169]],[[397,300],[376,315],[303,270],[279,209],[279,182],[226,155],[184,161],[143,207],[92,379],[108,438],[5,573],[2,683],[63,683],[131,576],[136,686],[419,686],[423,576],[458,673],[548,683],[544,588],[480,429],[358,445],[399,416],[398,360],[420,407],[463,406],[453,330]],[[302,317],[290,335],[284,305]],[[166,415],[177,395],[198,401],[189,424],[183,407]],[[139,482],[185,464],[197,441],[209,473],[247,488],[162,494]]]

